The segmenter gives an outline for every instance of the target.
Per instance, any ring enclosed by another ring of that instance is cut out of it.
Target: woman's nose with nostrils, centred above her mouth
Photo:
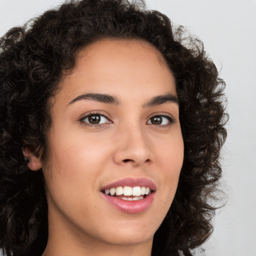
[[[113,155],[116,164],[131,164],[136,167],[152,162],[153,152],[150,139],[140,127],[126,127],[122,131],[119,130],[118,133]]]

